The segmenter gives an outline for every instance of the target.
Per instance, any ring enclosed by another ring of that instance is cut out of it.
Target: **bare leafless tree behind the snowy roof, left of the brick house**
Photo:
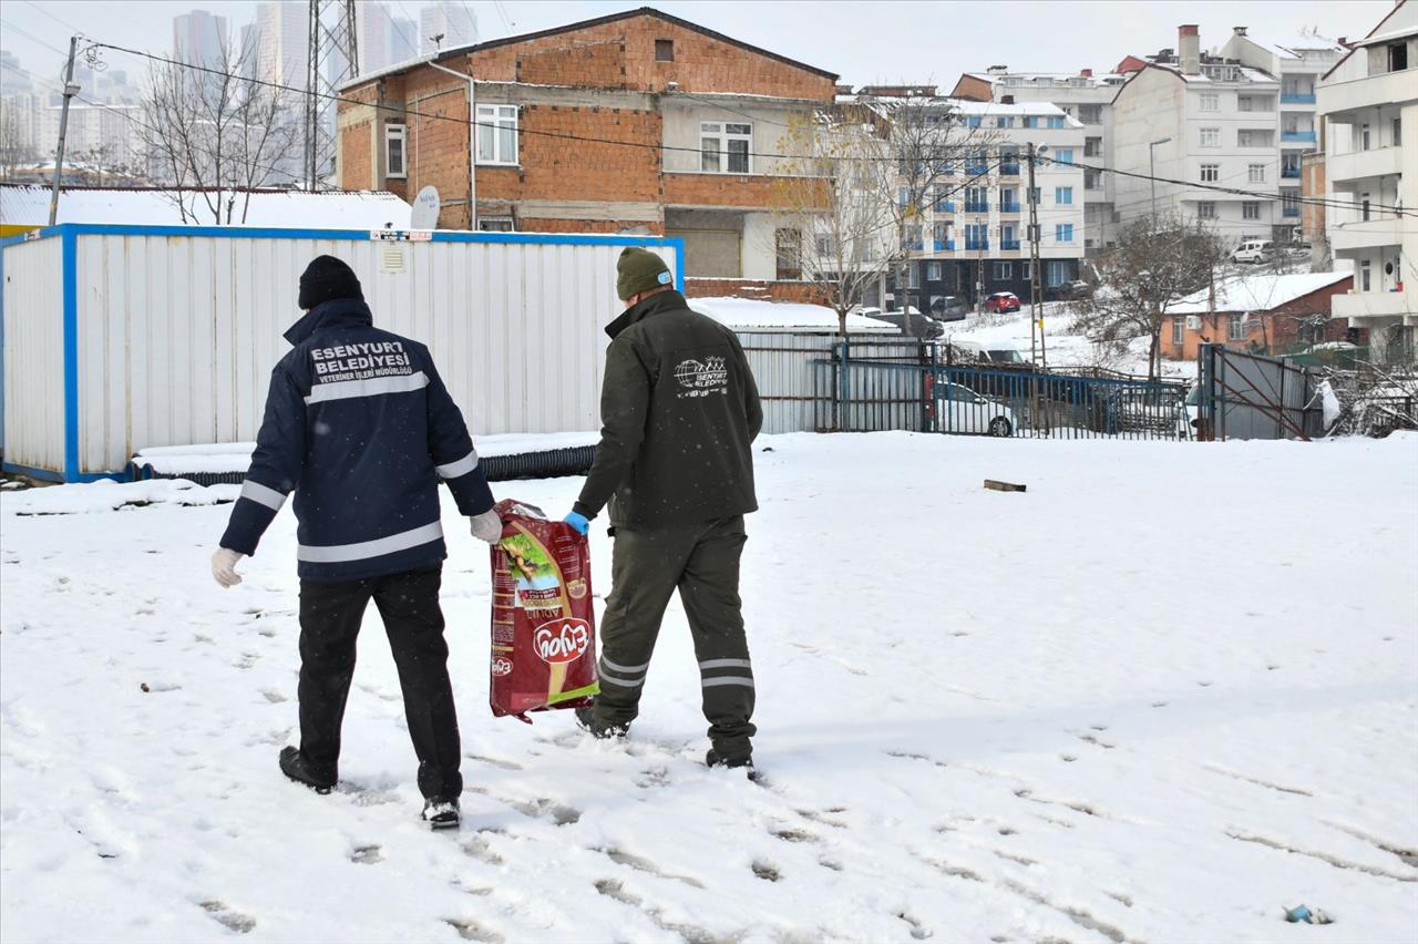
[[[244,223],[251,191],[292,176],[299,115],[285,92],[242,78],[252,45],[225,48],[203,69],[164,64],[143,98],[142,145],[152,174],[176,187],[183,221]]]

